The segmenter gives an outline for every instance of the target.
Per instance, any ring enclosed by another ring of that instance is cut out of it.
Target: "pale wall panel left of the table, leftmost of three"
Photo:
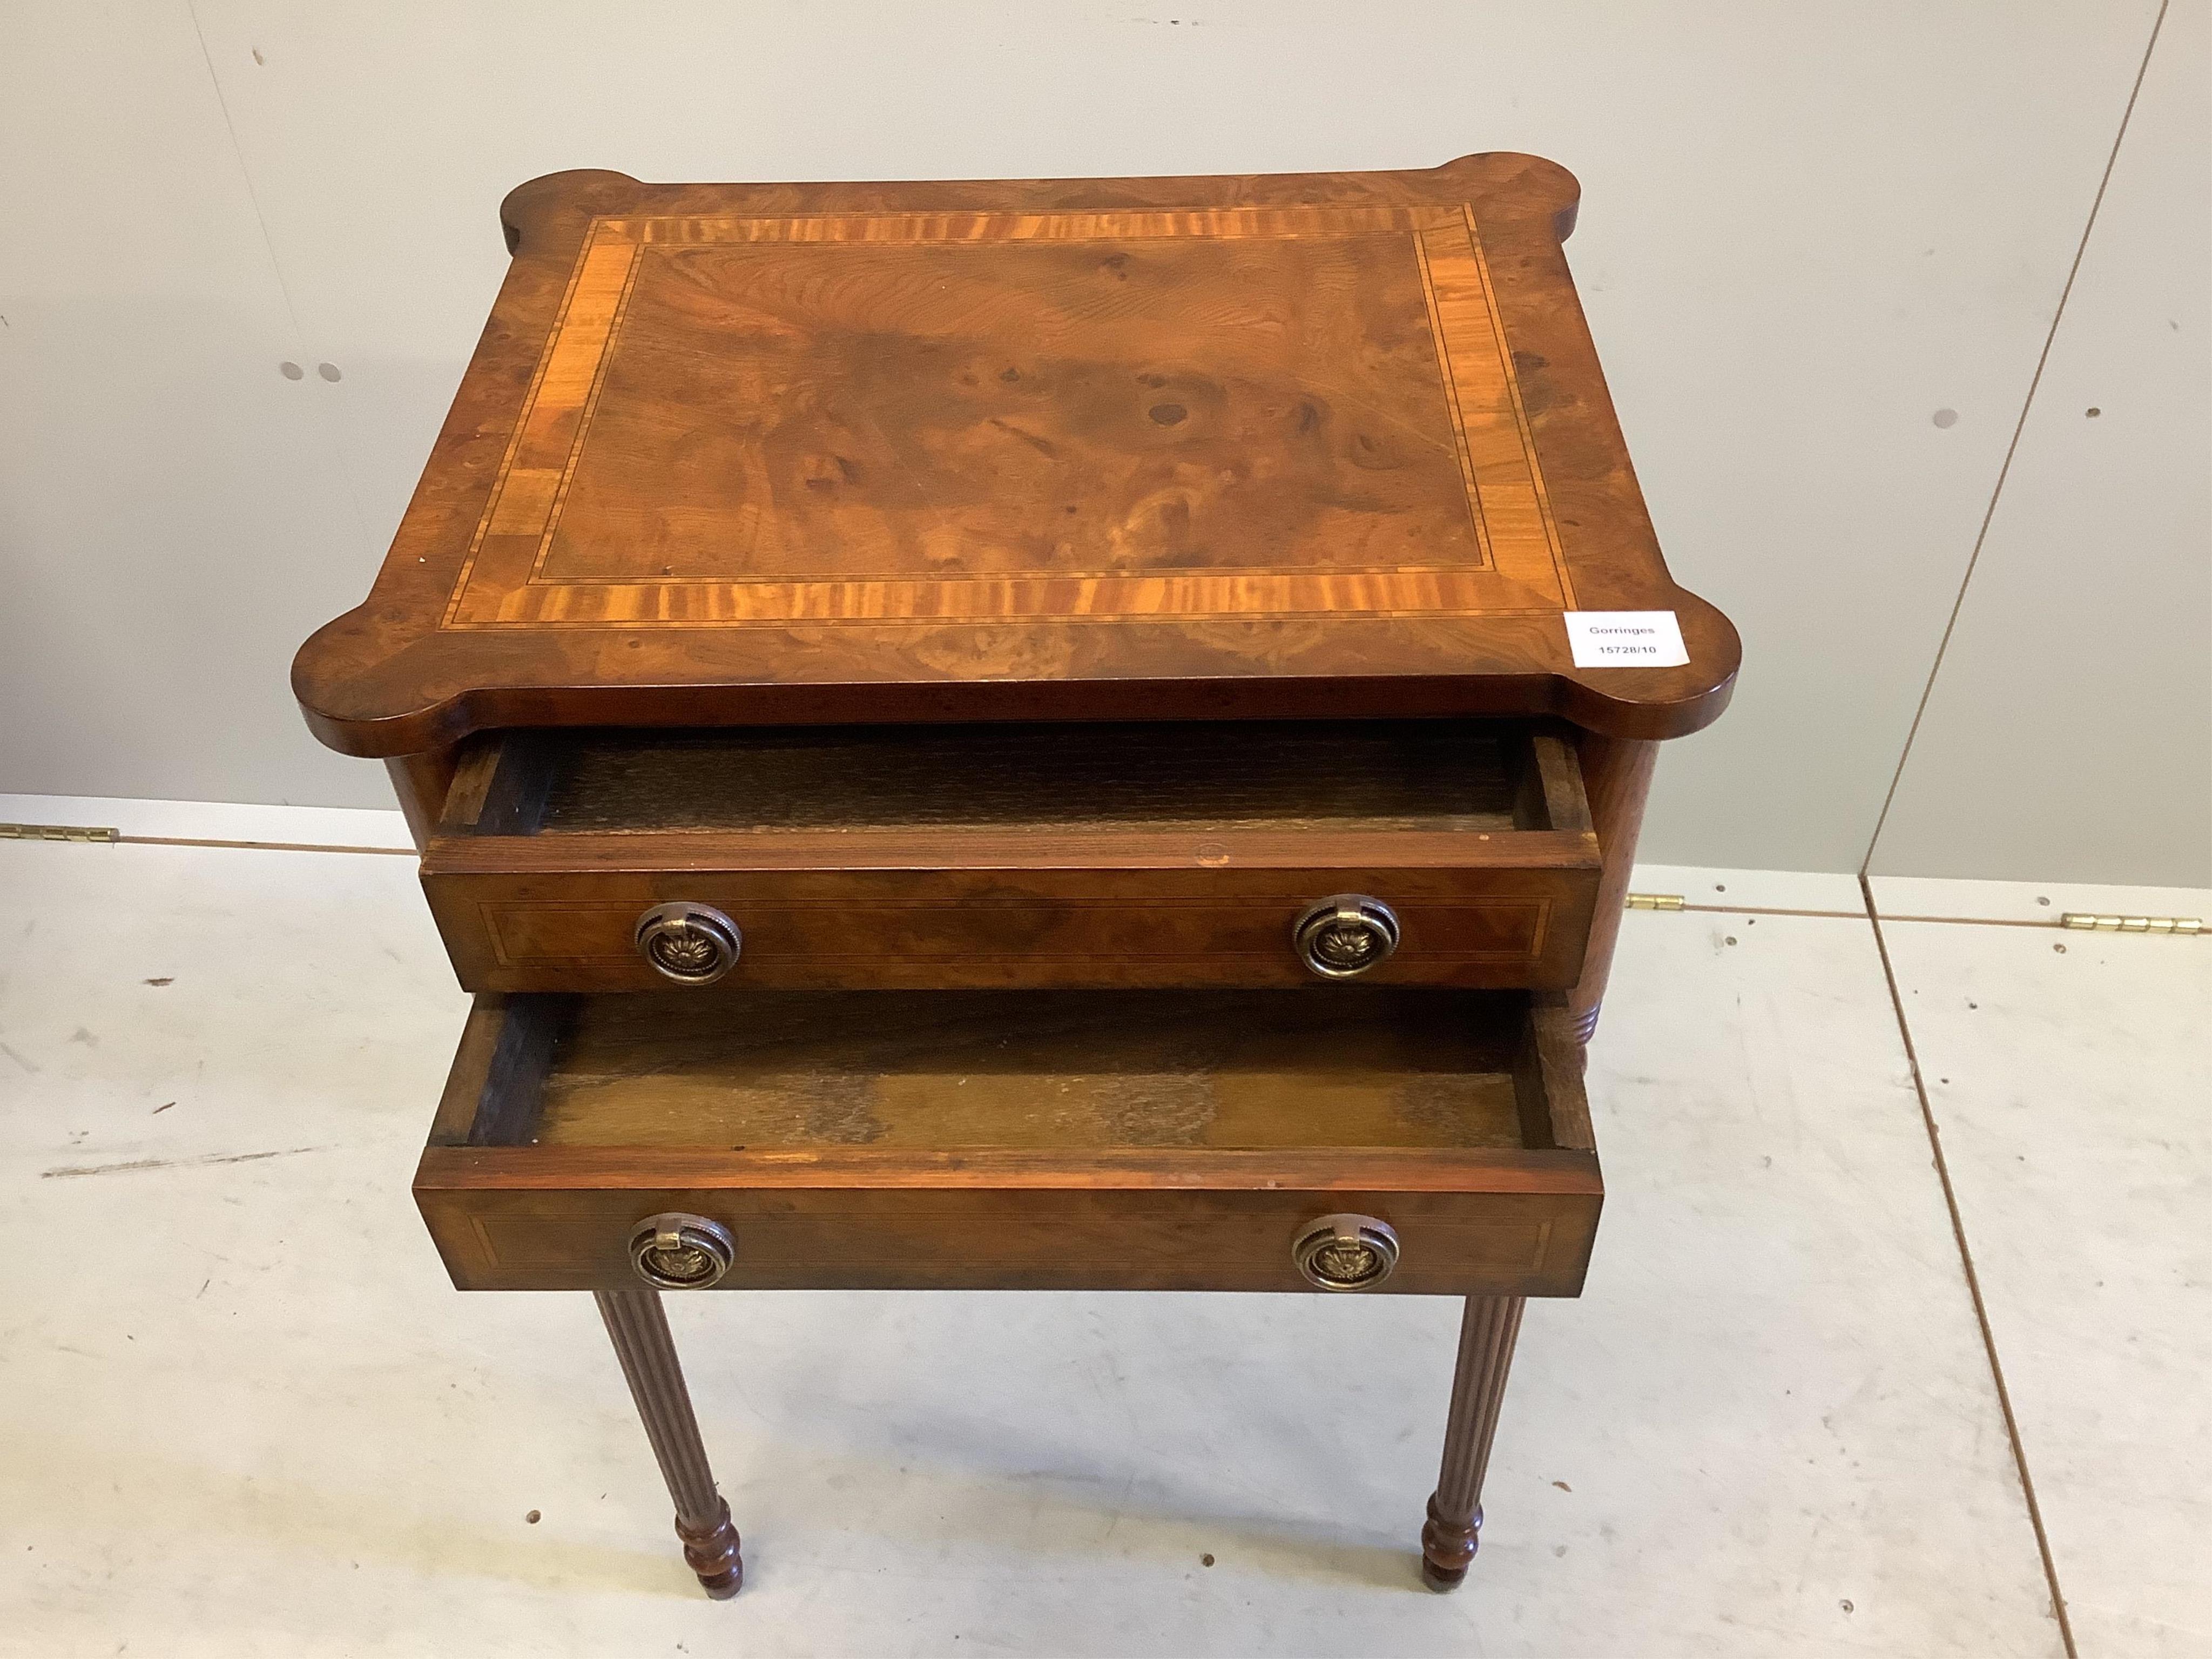
[[[372,538],[181,0],[0,7],[0,790],[378,803],[301,635]]]

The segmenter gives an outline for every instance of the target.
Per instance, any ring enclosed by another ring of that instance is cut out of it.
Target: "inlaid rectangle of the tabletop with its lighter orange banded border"
[[[445,626],[1562,606],[1464,212],[830,215],[593,223]]]

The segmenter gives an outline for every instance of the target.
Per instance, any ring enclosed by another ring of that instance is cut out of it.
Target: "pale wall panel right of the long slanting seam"
[[[1878,874],[2212,887],[2208,66],[2174,0]]]

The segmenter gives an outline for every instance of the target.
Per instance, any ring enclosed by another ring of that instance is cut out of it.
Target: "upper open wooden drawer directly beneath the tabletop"
[[[1559,989],[1597,863],[1522,723],[582,730],[473,748],[422,885],[471,991]]]

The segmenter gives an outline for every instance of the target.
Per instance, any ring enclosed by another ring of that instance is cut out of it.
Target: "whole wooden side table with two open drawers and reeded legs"
[[[734,1595],[661,1292],[1462,1296],[1433,1588],[1604,1183],[1659,557],[1575,179],[560,173],[299,653],[473,1013],[416,1201],[588,1290]],[[1323,1425],[1316,1425],[1316,1429]]]

